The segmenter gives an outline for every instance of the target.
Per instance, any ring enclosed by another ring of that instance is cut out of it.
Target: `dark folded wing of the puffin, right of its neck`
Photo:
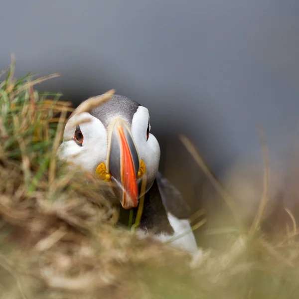
[[[156,181],[166,211],[177,219],[187,219],[191,210],[181,193],[160,172],[156,175]]]

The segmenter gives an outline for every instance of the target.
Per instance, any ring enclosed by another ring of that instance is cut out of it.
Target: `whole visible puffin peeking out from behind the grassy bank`
[[[71,116],[58,157],[109,183],[106,196],[120,204],[119,223],[139,218],[140,237],[151,235],[194,254],[198,247],[188,220],[190,208],[158,171],[160,147],[150,129],[146,107],[114,94],[90,111]]]

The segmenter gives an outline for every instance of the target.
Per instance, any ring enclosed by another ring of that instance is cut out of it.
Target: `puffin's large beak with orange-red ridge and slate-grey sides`
[[[127,123],[117,119],[111,132],[107,171],[111,173],[115,194],[125,209],[138,206],[137,173],[140,167],[138,151]]]

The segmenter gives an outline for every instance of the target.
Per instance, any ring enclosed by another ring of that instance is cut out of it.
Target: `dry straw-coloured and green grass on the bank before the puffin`
[[[33,88],[55,75],[13,72],[0,82],[0,299],[298,297],[296,223],[271,241],[256,221],[192,258],[116,227],[105,185],[57,163],[72,109]]]

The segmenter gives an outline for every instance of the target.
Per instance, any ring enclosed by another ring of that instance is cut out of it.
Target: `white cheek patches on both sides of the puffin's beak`
[[[90,119],[88,123],[79,124],[83,137],[77,142],[74,138],[76,126],[74,122],[83,119]],[[156,138],[147,131],[149,124],[149,111],[143,106],[139,106],[136,111],[132,125],[128,124],[137,147],[140,159],[146,164],[147,190],[151,187],[160,160],[160,148]],[[149,125],[150,126],[150,125]],[[58,156],[67,162],[75,163],[84,170],[94,173],[98,165],[107,163],[108,134],[103,123],[91,116],[89,113],[74,115],[65,126],[63,142],[58,149]],[[107,165],[107,164],[106,164]]]

